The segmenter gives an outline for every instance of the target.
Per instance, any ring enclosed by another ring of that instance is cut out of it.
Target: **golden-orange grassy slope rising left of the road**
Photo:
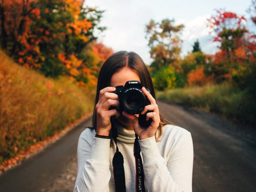
[[[0,164],[92,112],[93,93],[46,78],[0,51]]]

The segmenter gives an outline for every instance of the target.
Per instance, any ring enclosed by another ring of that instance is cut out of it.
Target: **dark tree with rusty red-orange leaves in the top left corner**
[[[40,18],[37,3],[37,0],[0,1],[0,45],[26,67],[39,67],[42,61],[38,54],[40,41],[29,27]]]

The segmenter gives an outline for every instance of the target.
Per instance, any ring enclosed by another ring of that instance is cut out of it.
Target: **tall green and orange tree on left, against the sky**
[[[89,42],[97,38],[93,30],[98,28],[103,11],[83,8],[83,2],[40,0],[41,18],[34,26],[38,33],[43,33],[42,36],[48,34],[40,44],[45,58],[42,71],[46,76],[66,74],[72,80],[87,82],[87,78],[82,78],[85,76],[82,69],[86,67],[82,52]]]

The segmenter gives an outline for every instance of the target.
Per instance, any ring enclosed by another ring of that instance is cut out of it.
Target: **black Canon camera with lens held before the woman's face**
[[[150,104],[150,101],[141,89],[142,84],[140,81],[127,81],[124,86],[116,86],[116,91],[113,91],[112,93],[116,93],[118,95],[120,103],[119,109],[115,106],[111,106],[109,110],[117,109],[120,114],[122,114],[124,110],[128,113],[140,114],[144,107]],[[146,90],[151,94],[150,89],[146,88]],[[147,113],[148,112],[152,111],[147,111]],[[143,127],[148,127],[152,122],[151,118],[146,121],[147,113],[139,115],[139,124]]]

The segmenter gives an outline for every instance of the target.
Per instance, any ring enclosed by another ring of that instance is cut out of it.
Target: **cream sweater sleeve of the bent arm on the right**
[[[192,192],[193,142],[190,132],[183,133],[167,159],[160,155],[155,137],[139,140],[148,191]]]

